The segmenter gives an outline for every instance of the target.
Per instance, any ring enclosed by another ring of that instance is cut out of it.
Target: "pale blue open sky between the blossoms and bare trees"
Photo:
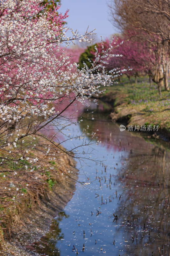
[[[104,38],[118,32],[109,21],[109,8],[106,0],[61,0],[60,12],[69,9],[67,26],[77,29],[82,35],[89,26],[96,28],[97,38]]]

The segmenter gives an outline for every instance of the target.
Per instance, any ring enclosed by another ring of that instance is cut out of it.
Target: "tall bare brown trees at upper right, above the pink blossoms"
[[[110,17],[130,38],[144,70],[158,85],[168,87],[170,53],[170,2],[167,0],[111,0]],[[134,43],[134,44],[133,44]],[[141,53],[141,54],[140,54]]]

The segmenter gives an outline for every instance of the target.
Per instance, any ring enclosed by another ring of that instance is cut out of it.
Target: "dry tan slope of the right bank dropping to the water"
[[[99,99],[105,103],[111,105],[111,113],[110,118],[113,122],[121,123],[126,126],[126,128],[130,125],[135,127],[146,126],[147,125],[155,125],[159,126],[158,131],[144,131],[149,134],[153,138],[162,139],[166,141],[170,141],[170,129],[169,129],[169,120],[170,114],[166,113],[166,116],[160,115],[160,113],[155,113],[154,111],[146,111],[145,105],[144,107],[134,106],[132,104],[128,104],[127,94],[124,92],[108,92],[104,95],[95,96],[92,98]],[[163,112],[164,113],[164,112]],[[134,130],[134,128],[133,128]],[[140,128],[139,128],[140,131]]]

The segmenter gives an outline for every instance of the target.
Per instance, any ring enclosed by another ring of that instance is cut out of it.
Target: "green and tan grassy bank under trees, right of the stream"
[[[132,78],[133,79],[133,78]],[[128,125],[159,125],[158,133],[170,138],[170,92],[162,89],[159,97],[157,85],[149,84],[149,78],[140,77],[138,83],[126,76],[121,82],[106,88],[102,100],[114,107],[111,118]]]

